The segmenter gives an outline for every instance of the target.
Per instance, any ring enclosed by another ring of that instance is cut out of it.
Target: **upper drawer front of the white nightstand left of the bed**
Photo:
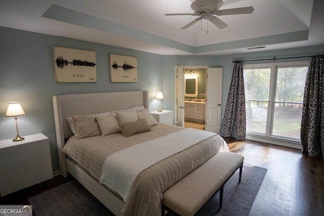
[[[44,143],[44,140],[3,148],[0,151],[0,168],[20,163],[26,160],[31,160],[37,157],[49,155],[49,153],[50,147],[48,144],[46,145],[46,143]]]

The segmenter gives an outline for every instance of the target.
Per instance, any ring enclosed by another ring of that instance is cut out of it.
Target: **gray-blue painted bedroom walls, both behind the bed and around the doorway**
[[[225,56],[162,56],[6,27],[0,27],[0,35],[0,139],[16,136],[15,121],[12,117],[6,117],[5,113],[9,102],[19,101],[26,112],[25,116],[18,118],[19,133],[21,136],[43,133],[50,139],[53,170],[59,169],[53,95],[147,90],[149,109],[153,111],[159,106],[154,99],[155,94],[162,91],[162,107],[174,110],[176,65],[223,67],[223,113],[232,77],[233,60],[324,53],[324,46],[316,46]],[[55,83],[53,46],[95,51],[97,82]],[[111,83],[109,54],[137,57],[138,82]]]

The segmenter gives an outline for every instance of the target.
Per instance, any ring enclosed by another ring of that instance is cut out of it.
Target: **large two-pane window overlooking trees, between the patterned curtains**
[[[300,140],[308,62],[244,65],[247,133]]]

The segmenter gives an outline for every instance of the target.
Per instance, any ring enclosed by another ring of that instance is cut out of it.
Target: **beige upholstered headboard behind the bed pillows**
[[[60,172],[63,177],[67,176],[67,170],[65,154],[61,150],[65,145],[64,139],[73,135],[66,117],[125,110],[135,106],[148,109],[147,91],[58,95],[52,99]]]

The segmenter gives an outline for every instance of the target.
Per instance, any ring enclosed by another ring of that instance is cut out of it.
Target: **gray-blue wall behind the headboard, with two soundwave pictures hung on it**
[[[0,27],[0,139],[16,137],[13,117],[5,113],[11,101],[19,101],[26,115],[18,117],[21,136],[43,133],[50,140],[53,170],[58,170],[53,95],[148,90],[150,110],[163,91],[163,56],[93,42]],[[96,52],[96,83],[55,83],[53,46]],[[135,56],[138,82],[111,83],[109,54]],[[162,101],[163,103],[163,101]]]

